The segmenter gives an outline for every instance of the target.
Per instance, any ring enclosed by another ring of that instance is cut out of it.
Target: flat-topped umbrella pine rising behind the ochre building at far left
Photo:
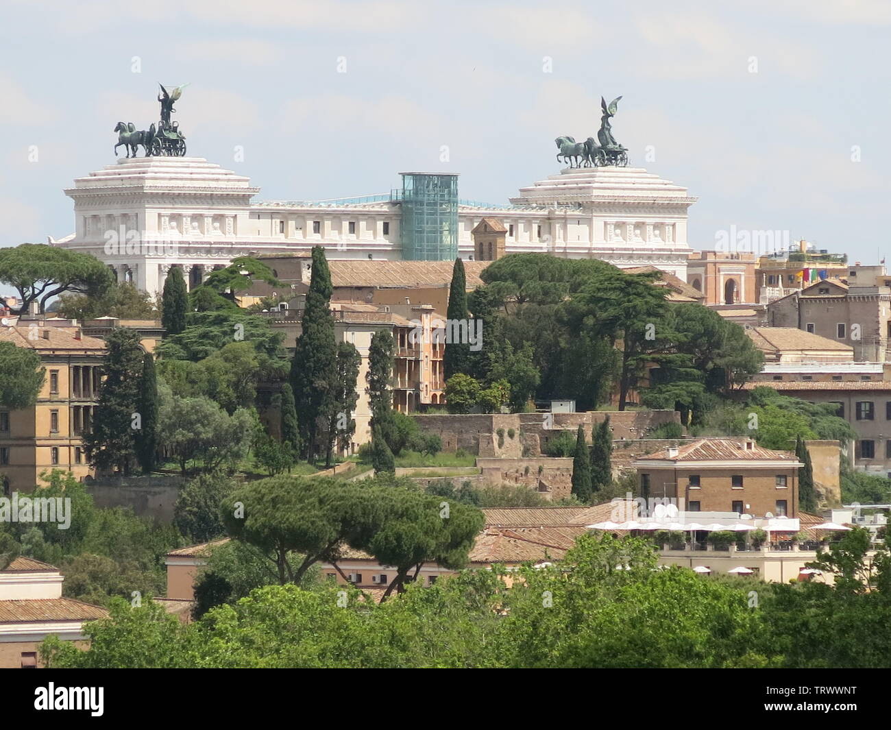
[[[0,249],[0,283],[19,293],[19,313],[37,302],[46,311],[50,299],[64,292],[102,297],[114,283],[109,267],[98,258],[45,243],[22,243]]]

